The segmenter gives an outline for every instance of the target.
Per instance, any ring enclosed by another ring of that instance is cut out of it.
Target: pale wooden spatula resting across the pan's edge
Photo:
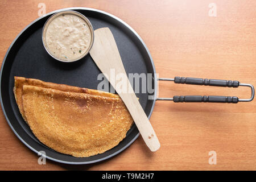
[[[115,43],[114,36],[109,28],[100,28],[94,31],[94,43],[92,49],[90,49],[90,55],[97,67],[100,68],[101,72],[108,78],[110,84],[122,98],[148,148],[150,148],[151,151],[158,150],[160,147],[158,138],[156,137],[155,131],[152,128],[150,121],[148,121],[147,115],[144,113],[141,104],[139,104],[138,98],[133,92],[125,68],[123,68],[117,44]],[[124,82],[127,83],[127,90],[131,92],[125,93],[119,86],[115,86],[115,79],[109,79],[111,69],[112,71],[114,69],[115,75],[118,75],[119,73],[125,75],[125,77],[123,77],[125,78]]]

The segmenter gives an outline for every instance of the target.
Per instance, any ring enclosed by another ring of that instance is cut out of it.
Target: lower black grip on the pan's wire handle
[[[237,103],[238,97],[226,96],[174,96],[174,102],[226,102]]]

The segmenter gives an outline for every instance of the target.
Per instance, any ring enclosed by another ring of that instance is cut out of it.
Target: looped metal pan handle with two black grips
[[[222,102],[237,103],[250,102],[254,98],[254,87],[251,84],[241,84],[239,81],[215,80],[203,78],[175,77],[175,78],[158,78],[159,81],[174,81],[176,84],[191,85],[209,85],[209,86],[228,86],[237,88],[238,86],[248,86],[251,88],[251,98],[240,99],[230,96],[174,96],[174,98],[157,98],[156,100],[168,100],[174,102]]]

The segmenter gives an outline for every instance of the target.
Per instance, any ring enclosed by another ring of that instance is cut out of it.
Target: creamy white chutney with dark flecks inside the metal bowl
[[[74,14],[56,16],[49,23],[45,36],[48,52],[64,61],[78,59],[88,50],[92,42],[88,24]]]

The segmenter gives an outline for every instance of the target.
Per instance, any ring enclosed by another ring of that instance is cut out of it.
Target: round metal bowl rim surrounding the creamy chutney
[[[89,30],[90,30],[90,35],[92,36],[92,39],[90,41],[90,45],[89,45],[89,48],[87,49],[86,52],[84,52],[82,55],[80,55],[79,57],[77,57],[76,59],[72,59],[72,60],[61,60],[59,59],[58,57],[54,56],[51,54],[51,52],[49,52],[48,48],[47,48],[47,43],[46,43],[46,30],[49,26],[49,24],[52,22],[53,19],[55,19],[57,16],[60,16],[60,15],[63,15],[63,14],[73,14],[73,15],[76,15],[76,16],[79,16],[80,18],[82,18],[87,24],[88,24],[88,27],[89,27]],[[58,60],[58,61],[61,61],[61,62],[65,62],[65,63],[71,63],[71,62],[75,62],[75,61],[78,61],[80,59],[82,59],[82,57],[86,56],[90,49],[92,48],[92,45],[93,45],[93,41],[94,41],[94,31],[93,31],[93,27],[92,27],[92,24],[90,23],[90,21],[84,16],[82,15],[81,13],[78,13],[77,11],[72,11],[72,10],[67,10],[67,11],[60,11],[59,13],[55,13],[53,14],[47,21],[46,23],[44,24],[44,27],[43,27],[43,31],[42,31],[42,40],[43,40],[43,45],[44,45],[44,48],[46,49],[46,51],[49,53],[50,56],[52,56],[54,59]]]

